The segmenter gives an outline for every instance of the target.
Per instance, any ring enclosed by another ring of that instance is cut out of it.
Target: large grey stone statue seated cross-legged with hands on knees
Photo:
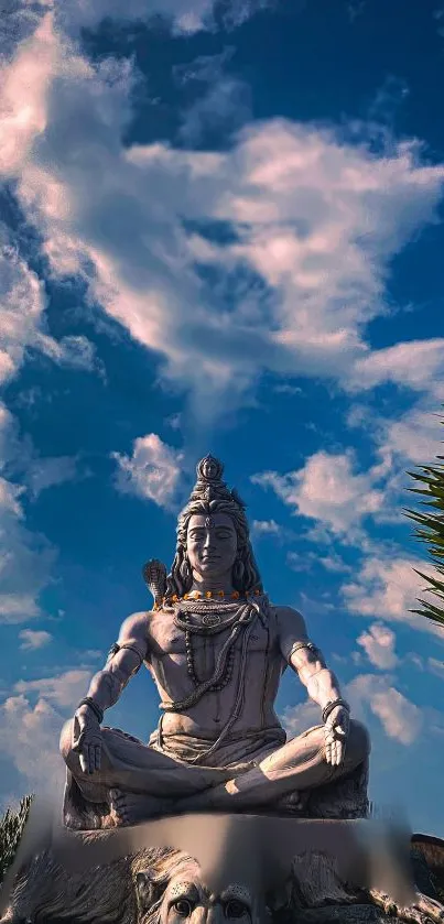
[[[335,787],[350,780],[360,792],[359,807],[350,812],[366,814],[367,731],[350,719],[303,617],[264,594],[245,506],[221,476],[212,456],[197,466],[197,483],[178,518],[171,574],[158,562],[145,567],[152,610],[123,622],[105,667],[62,731],[68,827],[191,812],[334,817]],[[102,727],[105,710],[142,664],[161,698],[148,744]],[[288,666],[322,715],[322,724],[292,740],[274,711]]]

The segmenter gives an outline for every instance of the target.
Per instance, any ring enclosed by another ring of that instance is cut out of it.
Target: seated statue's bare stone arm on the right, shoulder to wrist
[[[278,632],[283,657],[296,672],[308,696],[325,709],[342,698],[339,684],[324,655],[310,641],[304,618],[291,607],[277,607]]]

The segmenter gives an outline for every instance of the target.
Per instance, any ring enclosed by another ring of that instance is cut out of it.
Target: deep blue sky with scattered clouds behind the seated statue
[[[1,30],[2,806],[59,786],[212,452],[370,729],[371,797],[442,835],[444,637],[401,511],[441,450],[444,8],[12,0]],[[317,721],[289,672],[279,711]],[[156,720],[141,673],[109,722]]]

